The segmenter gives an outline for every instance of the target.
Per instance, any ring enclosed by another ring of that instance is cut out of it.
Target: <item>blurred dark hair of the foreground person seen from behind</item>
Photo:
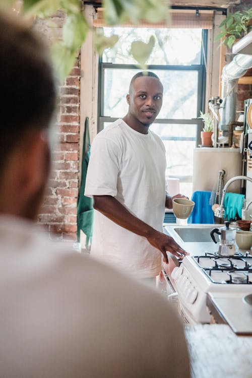
[[[56,90],[46,49],[27,26],[0,15],[0,46],[1,164],[26,132],[48,127]]]

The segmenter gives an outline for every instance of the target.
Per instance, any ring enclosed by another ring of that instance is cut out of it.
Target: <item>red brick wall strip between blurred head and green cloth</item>
[[[60,87],[57,146],[38,222],[52,238],[77,239],[80,140],[80,59]]]

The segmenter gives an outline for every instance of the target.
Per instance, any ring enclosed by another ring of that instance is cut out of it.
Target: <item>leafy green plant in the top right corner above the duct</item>
[[[216,36],[216,39],[225,37],[221,44],[224,43],[225,46],[231,48],[236,39],[243,37],[252,30],[252,8],[243,12],[230,13],[220,24],[220,29],[221,32]]]

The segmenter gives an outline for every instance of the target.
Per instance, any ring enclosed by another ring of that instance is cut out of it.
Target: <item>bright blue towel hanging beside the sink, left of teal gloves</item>
[[[214,223],[214,212],[209,205],[211,192],[197,191],[193,193],[194,210],[187,223]]]

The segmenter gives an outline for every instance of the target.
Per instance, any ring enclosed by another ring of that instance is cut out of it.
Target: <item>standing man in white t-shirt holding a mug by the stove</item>
[[[162,96],[155,74],[133,77],[128,114],[95,137],[86,178],[85,195],[93,196],[96,210],[91,254],[140,278],[159,274],[160,252],[165,262],[166,251],[186,255],[163,233],[165,207],[172,208],[172,198],[165,192],[163,143],[149,130]]]

